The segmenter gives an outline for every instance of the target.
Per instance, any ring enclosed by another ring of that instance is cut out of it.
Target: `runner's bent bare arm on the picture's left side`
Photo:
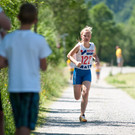
[[[77,66],[81,66],[81,62],[76,61],[76,59],[73,57],[74,54],[76,54],[79,51],[79,45],[76,45],[67,55],[67,57]]]

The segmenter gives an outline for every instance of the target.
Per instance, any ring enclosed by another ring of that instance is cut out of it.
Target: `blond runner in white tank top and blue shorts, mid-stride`
[[[81,101],[80,122],[87,122],[85,118],[86,106],[88,103],[88,95],[91,86],[91,66],[94,58],[97,63],[99,59],[96,55],[96,47],[90,42],[92,28],[86,26],[80,32],[81,41],[68,53],[67,57],[76,65],[73,73],[74,97]],[[76,59],[74,59],[76,54]]]

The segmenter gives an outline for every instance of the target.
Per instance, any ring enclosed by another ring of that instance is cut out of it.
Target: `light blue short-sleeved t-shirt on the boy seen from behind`
[[[0,55],[8,60],[8,91],[39,92],[40,59],[51,52],[44,37],[30,30],[7,34],[0,46]]]

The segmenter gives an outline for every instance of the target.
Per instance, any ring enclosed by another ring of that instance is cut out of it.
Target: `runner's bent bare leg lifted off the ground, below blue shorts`
[[[81,87],[82,85],[74,85],[74,97],[76,100],[79,100],[81,97]]]

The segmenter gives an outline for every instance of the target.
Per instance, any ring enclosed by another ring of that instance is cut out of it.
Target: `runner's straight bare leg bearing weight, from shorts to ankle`
[[[91,82],[89,82],[89,81],[84,81],[83,85],[82,85],[81,115],[83,115],[86,110],[90,85],[91,85]]]

